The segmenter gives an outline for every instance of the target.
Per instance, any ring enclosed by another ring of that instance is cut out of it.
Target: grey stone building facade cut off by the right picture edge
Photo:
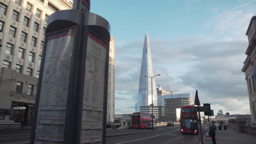
[[[243,62],[242,71],[245,73],[247,91],[249,96],[250,110],[252,114],[252,124],[256,127],[256,16],[253,16],[246,35],[248,37],[248,47],[246,49],[246,60]]]

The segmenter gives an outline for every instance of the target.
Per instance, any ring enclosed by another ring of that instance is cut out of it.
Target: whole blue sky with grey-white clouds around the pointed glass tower
[[[135,111],[146,33],[156,85],[193,98],[197,89],[215,115],[251,113],[241,69],[256,0],[94,0],[90,11],[108,20],[115,38],[115,114]]]

